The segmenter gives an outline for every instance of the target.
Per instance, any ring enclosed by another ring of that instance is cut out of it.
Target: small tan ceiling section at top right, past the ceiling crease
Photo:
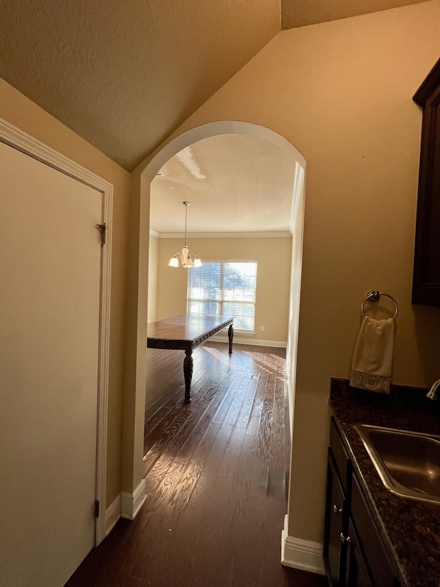
[[[282,0],[281,28],[314,25],[426,0]]]

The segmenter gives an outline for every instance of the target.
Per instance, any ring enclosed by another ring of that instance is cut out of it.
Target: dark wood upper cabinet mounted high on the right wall
[[[412,99],[423,107],[412,303],[440,306],[440,59]]]

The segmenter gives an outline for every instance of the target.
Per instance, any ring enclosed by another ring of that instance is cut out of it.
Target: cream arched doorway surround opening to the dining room
[[[275,131],[250,122],[223,120],[190,129],[170,140],[150,160],[141,164],[132,175],[131,255],[129,268],[129,296],[127,300],[126,333],[126,394],[124,397],[123,458],[122,458],[122,515],[134,517],[144,499],[142,479],[144,434],[144,382],[146,380],[146,299],[148,297],[148,239],[150,228],[151,182],[161,167],[179,151],[193,143],[220,134],[248,134],[263,138],[285,149],[295,165],[294,193],[290,232],[294,235],[292,250],[292,283],[289,303],[289,337],[287,357],[290,365],[290,383],[294,389],[296,367],[296,338],[298,334],[299,293],[303,243],[303,211],[306,161],[301,153]],[[293,392],[292,392],[293,393]],[[291,395],[291,404],[292,404]],[[291,408],[292,409],[292,408]]]

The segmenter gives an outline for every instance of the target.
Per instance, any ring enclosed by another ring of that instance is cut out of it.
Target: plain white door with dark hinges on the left
[[[0,584],[94,546],[102,194],[0,142]]]

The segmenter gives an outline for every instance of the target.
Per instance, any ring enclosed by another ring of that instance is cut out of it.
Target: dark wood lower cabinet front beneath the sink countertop
[[[334,418],[327,467],[324,562],[331,587],[399,587]]]

